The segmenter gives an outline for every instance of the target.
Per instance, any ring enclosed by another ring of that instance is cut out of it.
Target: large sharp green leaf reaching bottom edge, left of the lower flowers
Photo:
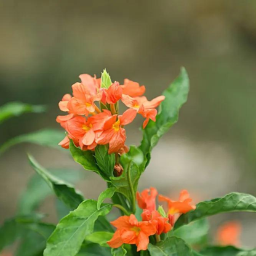
[[[86,200],[78,209],[70,212],[58,223],[54,233],[47,241],[44,256],[73,256],[78,254],[84,238],[94,231],[98,216],[106,215],[111,204],[103,204],[97,210],[97,201]]]

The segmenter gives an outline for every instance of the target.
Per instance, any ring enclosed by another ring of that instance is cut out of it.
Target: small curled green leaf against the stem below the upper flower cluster
[[[122,167],[124,171],[119,177],[111,177],[111,183],[116,187],[116,192],[123,194],[127,199],[130,199],[132,194],[130,191],[130,182],[134,188],[134,191],[137,191],[138,179],[140,178],[140,170],[138,169],[135,162],[127,161],[127,159],[120,158]],[[130,169],[130,170],[129,170]]]

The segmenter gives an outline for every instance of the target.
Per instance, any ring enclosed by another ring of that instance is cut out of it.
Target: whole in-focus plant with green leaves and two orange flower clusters
[[[123,84],[112,82],[106,70],[101,78],[89,74],[79,78],[81,82],[72,86],[73,95],[65,94],[59,103],[60,110],[66,112],[57,116],[66,133],[59,145],[69,149],[74,161],[84,169],[100,175],[107,188],[97,201],[84,199],[70,183],[41,167],[29,155],[31,166],[54,191],[62,209],[65,205],[66,212],[61,211],[60,222],[55,226],[43,223],[42,216],[34,214],[36,202],[30,207],[22,206],[26,209],[23,214],[2,226],[0,232],[6,235],[8,225],[15,225],[15,234],[2,242],[0,249],[22,237],[17,255],[256,255],[256,250],[231,246],[237,241],[236,236],[221,247],[209,246],[206,239],[207,217],[222,212],[256,212],[254,196],[230,193],[195,206],[186,190],[180,191],[176,200],[158,194],[153,187],[137,191],[151,151],[177,122],[178,111],[186,102],[186,70],[182,68],[163,95],[153,100],[143,96],[145,86],[129,79],[124,79]],[[120,103],[127,107],[124,113],[120,113]],[[137,115],[144,118],[143,139],[140,146],[127,146],[126,126]],[[111,199],[111,203],[104,203],[105,199]],[[114,208],[120,216],[110,222],[108,214]],[[222,241],[226,234],[230,236],[230,230],[234,234],[234,225],[221,231]],[[35,233],[42,237],[37,238]],[[33,248],[33,241],[36,249],[28,250]]]

